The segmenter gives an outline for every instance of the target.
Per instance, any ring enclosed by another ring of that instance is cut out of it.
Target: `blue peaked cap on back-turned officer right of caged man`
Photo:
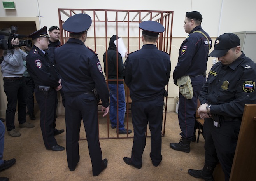
[[[142,34],[149,35],[151,37],[158,37],[159,33],[165,31],[163,25],[156,21],[143,21],[139,24],[140,29],[142,29]]]

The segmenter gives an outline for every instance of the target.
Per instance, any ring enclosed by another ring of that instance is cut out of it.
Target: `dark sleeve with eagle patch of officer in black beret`
[[[190,40],[185,40],[179,50],[178,63],[173,72],[174,84],[177,85],[177,79],[181,78],[188,71],[193,56],[196,53],[196,46]]]

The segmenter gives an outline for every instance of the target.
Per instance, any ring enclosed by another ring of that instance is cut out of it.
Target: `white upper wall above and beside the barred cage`
[[[203,29],[211,37],[225,32],[256,31],[252,23],[255,0],[13,0],[16,10],[3,9],[0,17],[38,17],[41,27],[58,25],[58,8],[166,10],[174,11],[173,37],[186,37],[183,21],[186,12],[199,11],[203,16]],[[38,2],[38,3],[37,3]],[[39,8],[38,8],[39,5]]]

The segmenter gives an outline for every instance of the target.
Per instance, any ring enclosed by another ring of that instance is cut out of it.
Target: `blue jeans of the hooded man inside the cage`
[[[110,94],[109,117],[111,126],[117,126],[117,84],[108,84]],[[118,128],[124,130],[124,116],[126,111],[124,84],[118,84]]]

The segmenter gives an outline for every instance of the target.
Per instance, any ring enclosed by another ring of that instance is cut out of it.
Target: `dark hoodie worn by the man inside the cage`
[[[120,37],[118,37],[119,39]],[[108,79],[117,79],[116,76],[116,60],[117,60],[117,55],[116,55],[116,45],[114,43],[114,40],[116,40],[116,35],[113,35],[110,38],[109,41],[109,48],[107,49],[107,60],[106,60],[106,52],[103,55],[103,61],[104,61],[104,71],[105,74],[108,74]],[[107,62],[107,63],[106,63]],[[120,53],[118,53],[118,79],[123,79],[124,78],[124,65],[123,59]],[[107,72],[107,68],[108,72]],[[109,81],[109,84],[116,84],[115,81]],[[118,81],[118,84],[123,84],[123,81]]]

